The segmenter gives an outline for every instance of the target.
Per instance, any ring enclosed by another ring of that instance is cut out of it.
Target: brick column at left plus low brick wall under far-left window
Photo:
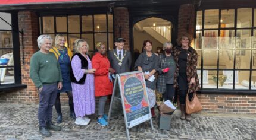
[[[18,25],[19,29],[23,29],[24,31],[24,65],[22,49],[20,49],[20,61],[22,84],[26,84],[27,88],[23,90],[4,91],[4,93],[0,94],[0,101],[7,103],[36,103],[39,97],[35,85],[29,78],[29,63],[30,57],[38,50],[36,42],[39,34],[38,16],[32,11],[20,11],[18,12]]]

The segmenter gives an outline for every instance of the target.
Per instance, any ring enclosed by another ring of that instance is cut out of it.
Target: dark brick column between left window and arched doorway
[[[126,7],[116,7],[114,8],[114,31],[115,38],[123,37],[126,42],[124,44],[125,49],[130,49],[129,44],[129,12]],[[119,28],[121,28],[121,36],[119,32]]]

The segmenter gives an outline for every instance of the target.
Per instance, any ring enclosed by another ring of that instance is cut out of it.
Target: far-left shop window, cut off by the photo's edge
[[[13,43],[13,40],[18,39],[18,33],[12,28],[18,18],[16,14],[4,12],[0,12],[0,17],[5,20],[0,19],[0,86],[21,84],[20,50],[19,46],[14,46]]]

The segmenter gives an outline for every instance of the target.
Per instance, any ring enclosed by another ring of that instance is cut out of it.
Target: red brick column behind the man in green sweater
[[[24,31],[24,53],[22,53],[21,49],[21,78],[22,84],[27,85],[27,89],[23,90],[23,94],[25,94],[26,102],[36,102],[39,100],[38,92],[35,85],[32,82],[32,79],[29,77],[29,64],[30,58],[36,51],[39,50],[38,43],[36,39],[39,34],[39,22],[38,16],[35,12],[32,11],[20,11],[18,12],[18,26]],[[20,34],[20,43],[21,43],[21,34]],[[21,44],[20,44],[21,46]],[[24,65],[23,65],[23,55],[24,54]]]

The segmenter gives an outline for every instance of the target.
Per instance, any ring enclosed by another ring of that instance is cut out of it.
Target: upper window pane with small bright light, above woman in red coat
[[[106,15],[94,15],[94,31],[107,31]]]

